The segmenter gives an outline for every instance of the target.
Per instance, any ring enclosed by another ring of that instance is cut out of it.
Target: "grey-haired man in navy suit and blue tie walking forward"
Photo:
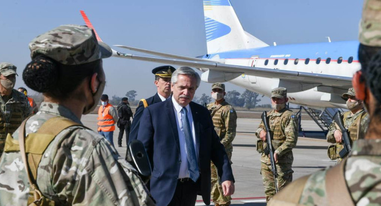
[[[199,75],[181,67],[171,83],[172,98],[144,109],[138,133],[152,165],[150,192],[158,206],[194,206],[197,194],[209,205],[210,160],[225,196],[234,193],[230,161],[209,111],[191,102]]]

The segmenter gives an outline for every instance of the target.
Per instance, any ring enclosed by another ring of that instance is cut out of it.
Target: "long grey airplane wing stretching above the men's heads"
[[[117,45],[117,46],[121,47],[120,45]],[[124,47],[126,46],[123,46],[123,48]],[[348,87],[351,87],[351,84],[352,84],[352,78],[350,77],[307,73],[307,72],[297,72],[297,71],[287,71],[287,70],[276,70],[276,69],[267,69],[267,68],[250,67],[250,66],[238,66],[238,65],[224,64],[224,63],[218,63],[218,62],[206,62],[206,61],[203,61],[204,59],[198,60],[198,58],[196,58],[197,60],[162,58],[162,57],[122,53],[119,51],[114,51],[113,56],[119,57],[119,58],[153,61],[153,62],[159,62],[164,64],[190,66],[195,68],[207,68],[209,70],[218,71],[218,72],[235,73],[235,74],[238,74],[238,76],[240,74],[246,74],[246,75],[275,78],[275,79],[287,80],[287,81],[297,81],[300,83],[318,84],[322,86],[324,85],[324,86],[330,86],[330,87],[336,87],[336,88],[343,88],[343,87],[348,88]]]

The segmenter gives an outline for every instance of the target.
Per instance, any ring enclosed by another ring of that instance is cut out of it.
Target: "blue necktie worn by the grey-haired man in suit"
[[[188,121],[187,109],[183,107],[183,109],[181,109],[181,113],[183,114],[183,129],[185,136],[185,148],[187,150],[189,176],[193,182],[196,182],[200,176],[200,173],[198,172],[196,152],[194,151],[193,138],[191,133],[191,126]]]

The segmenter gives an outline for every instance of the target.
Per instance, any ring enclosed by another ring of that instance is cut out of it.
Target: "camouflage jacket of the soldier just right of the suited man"
[[[221,139],[226,152],[233,152],[233,140],[236,137],[237,113],[232,105],[223,101],[219,105],[210,103],[207,105],[212,114],[214,130]]]

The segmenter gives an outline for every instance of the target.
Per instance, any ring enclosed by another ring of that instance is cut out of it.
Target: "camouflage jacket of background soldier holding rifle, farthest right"
[[[357,134],[358,134],[358,139],[364,139],[365,133],[368,130],[369,115],[368,113],[364,114],[364,112],[366,112],[364,109],[360,109],[353,115],[350,111],[347,111],[341,114],[344,127],[348,129],[349,136],[352,140],[357,140]],[[361,116],[360,127],[359,127],[360,131],[356,131],[357,125],[353,126],[353,124],[357,124],[357,121],[358,121],[357,118],[360,116]],[[336,143],[336,140],[334,139],[334,131],[336,129],[338,128],[336,128],[335,122],[333,120],[327,134],[327,142],[333,143],[333,144]]]

